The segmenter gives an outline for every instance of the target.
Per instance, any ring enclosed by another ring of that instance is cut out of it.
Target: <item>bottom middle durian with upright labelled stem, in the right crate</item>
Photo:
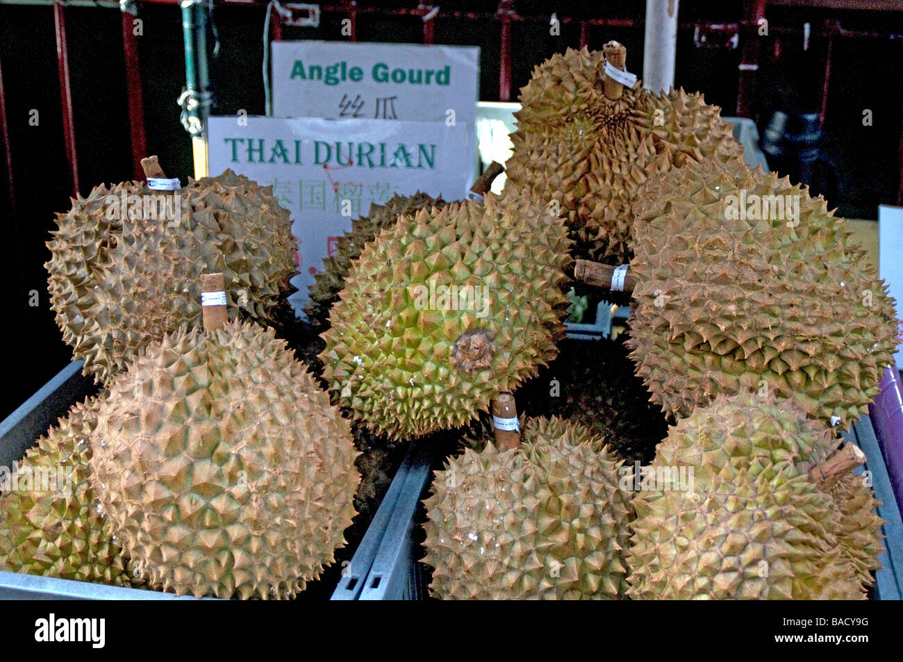
[[[615,600],[627,588],[631,493],[605,440],[527,419],[522,446],[466,450],[433,480],[425,563],[446,600]],[[626,468],[625,468],[626,469]]]

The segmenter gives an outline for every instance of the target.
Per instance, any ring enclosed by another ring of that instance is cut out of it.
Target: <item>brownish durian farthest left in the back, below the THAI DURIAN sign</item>
[[[165,214],[160,200],[172,202]],[[173,193],[101,185],[57,224],[45,265],[51,308],[85,374],[104,383],[163,332],[200,324],[201,273],[225,275],[233,319],[265,322],[291,291],[289,211],[271,186],[229,170]]]

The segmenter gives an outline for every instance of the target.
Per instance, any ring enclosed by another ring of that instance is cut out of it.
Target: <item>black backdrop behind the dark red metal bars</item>
[[[358,6],[368,5],[358,2]],[[386,3],[380,5],[386,6]],[[389,5],[412,7],[414,2]],[[494,13],[496,2],[442,3],[444,10]],[[580,29],[564,24],[560,36],[549,34],[552,11],[577,18],[630,18],[641,20],[645,3],[516,3],[520,14],[542,17],[512,24],[512,98],[524,86],[536,64],[556,51],[577,46]],[[573,5],[573,6],[571,6]],[[741,3],[722,0],[683,0],[682,23],[731,22],[741,16]],[[139,4],[144,34],[138,37],[141,59],[144,122],[149,154],[158,154],[168,173],[184,178],[192,172],[191,140],[179,122],[175,99],[184,85],[181,13],[177,6]],[[345,14],[323,13],[321,26],[284,29],[284,39],[344,39]],[[836,12],[812,8],[769,7],[771,26],[801,29],[813,26],[809,51],[802,36],[762,37],[759,88],[754,98],[760,130],[779,107],[818,110],[824,73],[824,39],[819,31],[826,19],[846,28],[903,33],[903,14],[893,12]],[[263,8],[217,5],[215,22],[220,51],[210,60],[210,78],[216,114],[250,115],[264,111],[261,79]],[[126,102],[125,65],[120,14],[115,9],[70,7],[66,10],[70,49],[75,133],[81,193],[100,182],[132,177],[132,155]],[[423,23],[416,17],[358,14],[358,41],[421,42]],[[617,39],[628,47],[628,69],[642,73],[643,28],[591,27],[591,45],[600,47]],[[436,43],[477,45],[482,49],[480,98],[498,100],[499,23],[443,18],[435,22]],[[782,57],[768,64],[774,40],[780,39]],[[210,35],[212,48],[212,35]],[[679,33],[676,80],[685,89],[700,89],[709,103],[734,115],[740,50],[700,50],[692,30]],[[20,405],[70,360],[60,331],[48,307],[46,272],[49,259],[44,242],[55,227],[54,212],[69,209],[70,175],[66,161],[60,109],[53,12],[46,6],[0,5],[0,62],[3,66],[7,120],[11,134],[16,210],[12,213],[7,190],[5,154],[0,158],[0,223],[5,259],[5,312],[0,360],[4,387],[0,388],[0,418]],[[837,39],[833,48],[831,94],[825,130],[826,152],[842,172],[838,200],[829,200],[838,212],[852,218],[876,218],[882,202],[896,200],[903,126],[898,71],[903,44],[889,40]],[[873,126],[862,126],[862,110],[872,110]],[[32,109],[39,125],[29,126]],[[33,291],[39,305],[29,305]]]

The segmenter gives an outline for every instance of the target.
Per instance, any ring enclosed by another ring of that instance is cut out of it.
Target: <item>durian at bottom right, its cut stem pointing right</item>
[[[838,506],[808,472],[832,445],[773,395],[718,396],[678,421],[633,499],[628,595],[864,599]]]

